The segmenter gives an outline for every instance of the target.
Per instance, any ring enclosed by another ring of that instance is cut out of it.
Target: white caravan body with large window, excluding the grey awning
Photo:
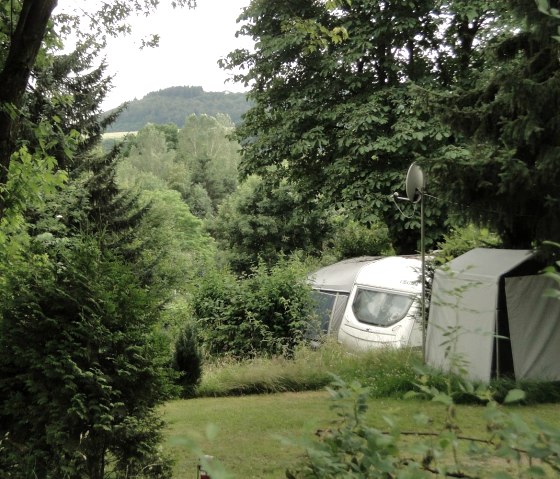
[[[352,351],[422,345],[422,261],[389,256],[358,272],[338,341]]]

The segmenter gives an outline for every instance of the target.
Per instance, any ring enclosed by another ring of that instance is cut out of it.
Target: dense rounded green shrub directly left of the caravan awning
[[[205,351],[237,358],[290,355],[312,315],[309,293],[297,260],[260,265],[242,278],[207,272],[193,298]]]

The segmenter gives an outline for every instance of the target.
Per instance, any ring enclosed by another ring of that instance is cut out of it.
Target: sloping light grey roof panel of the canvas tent
[[[533,256],[530,250],[474,248],[446,267],[464,277],[497,279]]]

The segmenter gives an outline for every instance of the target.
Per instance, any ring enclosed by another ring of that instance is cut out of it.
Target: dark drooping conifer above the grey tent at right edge
[[[530,248],[560,238],[560,22],[530,0],[506,8],[517,28],[495,35],[470,83],[434,97],[457,142],[442,150],[432,176],[442,196],[466,205],[462,214],[494,228],[505,247]]]

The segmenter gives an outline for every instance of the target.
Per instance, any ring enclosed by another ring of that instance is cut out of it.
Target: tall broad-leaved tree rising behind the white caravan
[[[397,252],[416,251],[411,230],[419,221],[404,221],[389,198],[403,190],[410,163],[428,164],[450,136],[411,89],[457,76],[458,62],[443,61],[458,48],[442,36],[453,17],[440,7],[253,1],[240,33],[255,39],[255,50],[234,51],[223,63],[242,69],[236,78],[251,86],[254,102],[236,133],[242,174],[283,174],[325,210],[365,225],[382,220]],[[445,211],[430,203],[426,217],[433,243]]]

